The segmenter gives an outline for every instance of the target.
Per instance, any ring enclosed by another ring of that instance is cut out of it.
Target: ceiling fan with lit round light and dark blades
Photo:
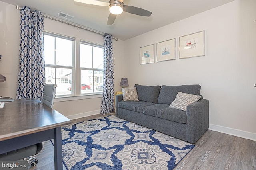
[[[152,12],[148,10],[144,10],[142,8],[138,8],[135,6],[124,5],[124,0],[110,0],[109,2],[102,2],[98,0],[74,0],[75,2],[80,2],[84,4],[98,5],[98,6],[108,6],[109,8],[109,16],[108,16],[108,25],[112,25],[116,20],[116,16],[121,14],[123,11],[139,15],[149,17]]]

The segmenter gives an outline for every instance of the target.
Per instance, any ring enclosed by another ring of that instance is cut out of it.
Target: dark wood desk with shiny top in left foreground
[[[14,100],[0,108],[0,154],[54,139],[55,170],[62,170],[61,126],[70,119],[40,100]]]

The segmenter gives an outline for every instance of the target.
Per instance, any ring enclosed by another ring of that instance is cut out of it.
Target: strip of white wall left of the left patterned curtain
[[[20,46],[20,12],[15,6],[0,1],[0,95],[16,98]]]

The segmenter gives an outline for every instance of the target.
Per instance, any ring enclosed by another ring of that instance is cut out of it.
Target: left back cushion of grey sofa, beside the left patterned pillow
[[[138,99],[145,102],[158,103],[158,96],[161,86],[142,86],[135,84]]]

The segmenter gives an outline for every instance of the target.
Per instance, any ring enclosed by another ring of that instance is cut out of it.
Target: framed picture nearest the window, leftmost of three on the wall
[[[140,64],[154,63],[154,44],[140,47]]]

